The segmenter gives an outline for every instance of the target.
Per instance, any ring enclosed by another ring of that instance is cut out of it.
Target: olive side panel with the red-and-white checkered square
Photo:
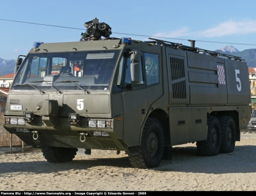
[[[187,56],[190,104],[226,104],[224,59],[195,52]]]

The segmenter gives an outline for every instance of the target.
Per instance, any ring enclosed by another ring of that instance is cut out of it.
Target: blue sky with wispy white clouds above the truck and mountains
[[[95,18],[112,37],[148,38],[218,50],[256,49],[255,0],[0,0],[0,58],[28,54],[34,41],[79,41]],[[16,21],[16,22],[14,22]],[[59,27],[56,27],[59,26]]]

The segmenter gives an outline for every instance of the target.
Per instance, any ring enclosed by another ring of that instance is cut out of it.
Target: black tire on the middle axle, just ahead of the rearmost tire
[[[198,155],[215,156],[220,152],[221,127],[217,117],[209,116],[207,140],[196,142]]]

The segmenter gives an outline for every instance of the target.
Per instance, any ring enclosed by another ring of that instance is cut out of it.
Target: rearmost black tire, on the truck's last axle
[[[220,118],[221,147],[220,153],[232,153],[236,145],[236,124],[230,116]]]

